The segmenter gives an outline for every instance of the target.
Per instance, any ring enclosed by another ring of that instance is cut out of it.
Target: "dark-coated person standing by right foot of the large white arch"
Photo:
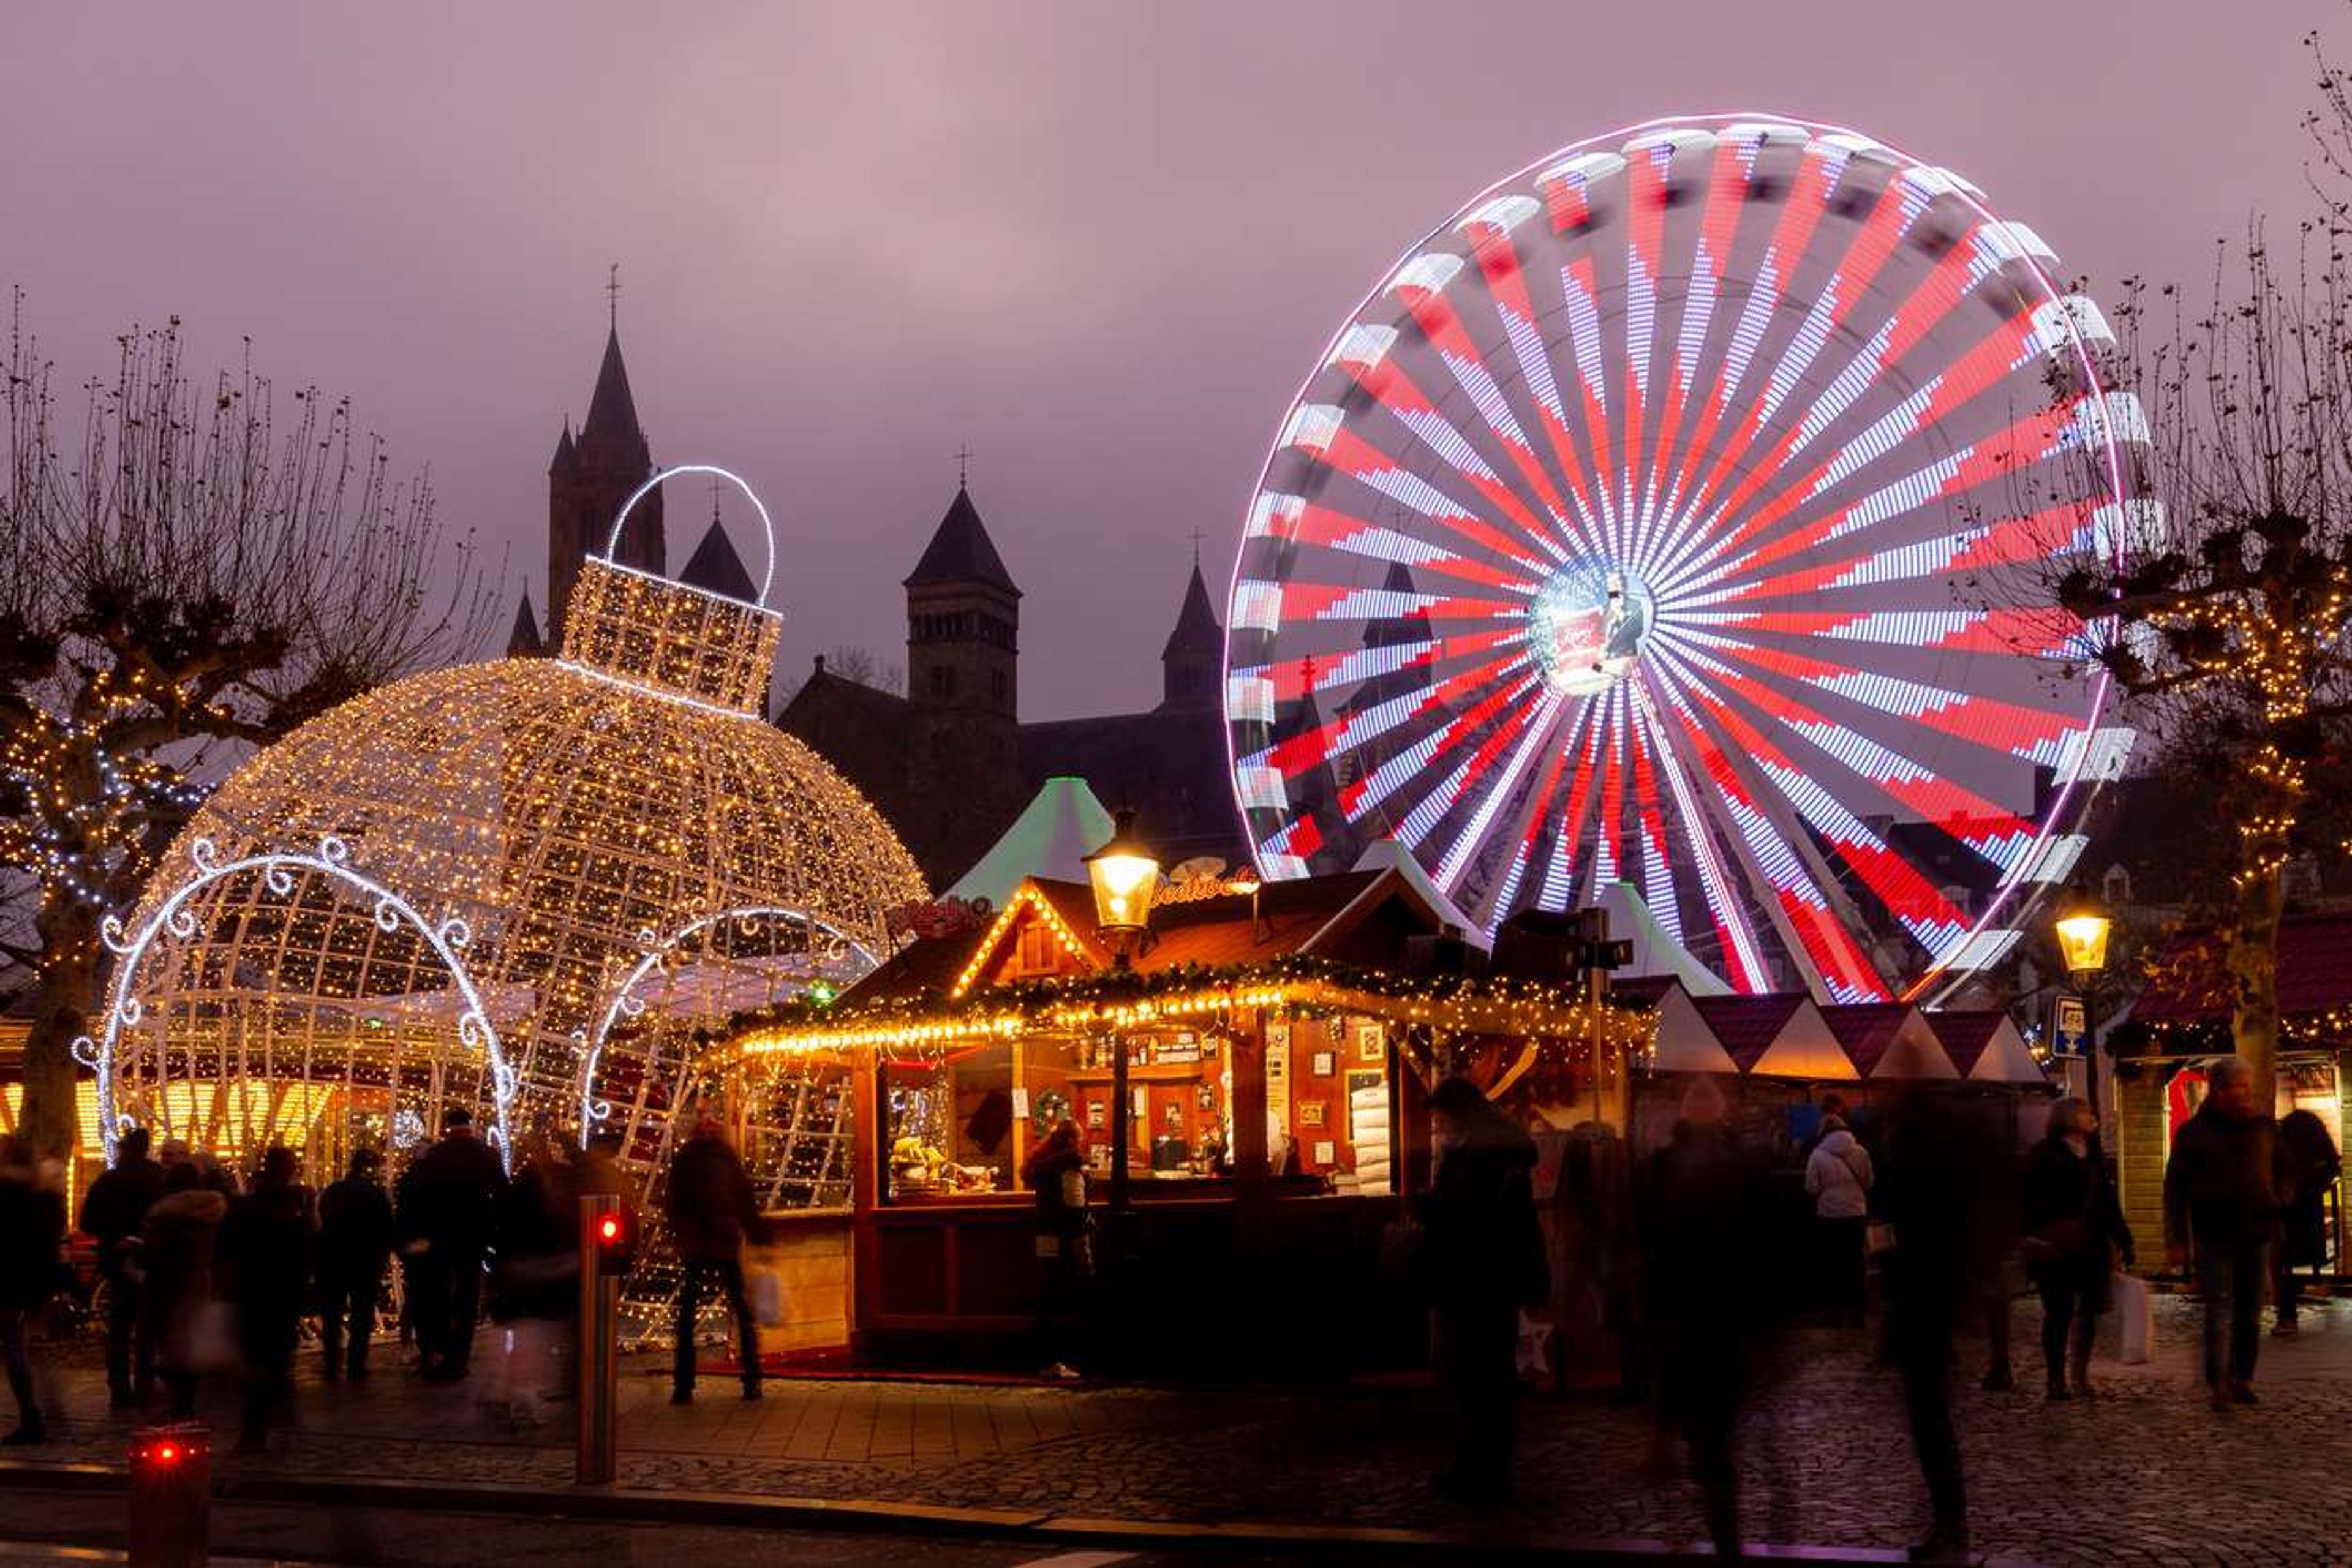
[[[499,1239],[506,1166],[473,1135],[463,1105],[442,1114],[442,1138],[400,1180],[402,1258],[416,1314],[416,1371],[456,1382],[473,1359],[482,1312],[482,1260]]]

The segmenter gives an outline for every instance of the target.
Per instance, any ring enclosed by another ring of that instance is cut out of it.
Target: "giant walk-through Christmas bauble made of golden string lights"
[[[557,658],[416,675],[252,757],[108,926],[108,1143],[136,1121],[318,1168],[463,1105],[501,1147],[602,1126],[659,1157],[708,1030],[866,973],[924,896],[767,722],[764,599],[588,559]]]

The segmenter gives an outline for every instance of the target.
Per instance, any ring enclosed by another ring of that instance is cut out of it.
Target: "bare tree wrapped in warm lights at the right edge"
[[[2091,654],[2164,766],[2218,802],[2206,903],[2234,1048],[2265,1084],[2284,872],[2345,851],[2352,785],[2352,299],[2338,235],[2303,240],[2288,270],[2256,233],[2234,282],[2225,254],[2194,317],[2161,289],[2154,334],[2133,289],[2119,353],[2152,433],[2147,501],[2112,520],[2124,534],[2089,529],[2049,583],[2098,628]]]

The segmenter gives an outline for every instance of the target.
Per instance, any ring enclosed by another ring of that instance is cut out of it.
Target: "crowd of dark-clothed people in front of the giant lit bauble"
[[[468,1110],[452,1107],[440,1138],[395,1182],[386,1185],[383,1154],[360,1147],[336,1180],[313,1190],[301,1154],[285,1145],[263,1150],[240,1180],[179,1138],[155,1145],[146,1128],[127,1128],[75,1215],[96,1251],[108,1403],[181,1420],[207,1382],[235,1380],[238,1450],[261,1450],[292,1415],[308,1321],[320,1378],[367,1382],[397,1269],[397,1333],[414,1345],[416,1373],[463,1382],[487,1307],[499,1333],[482,1403],[501,1427],[536,1425],[543,1403],[569,1387],[579,1199],[612,1194],[626,1206],[616,1157],[612,1138],[574,1147],[532,1133],[508,1161],[475,1135]],[[64,1168],[38,1166],[16,1138],[0,1140],[0,1349],[19,1415],[7,1443],[16,1446],[49,1436],[33,1331],[64,1293],[66,1211]],[[734,1309],[743,1394],[757,1399],[741,1253],[762,1234],[760,1215],[743,1164],[710,1119],[670,1164],[666,1218],[682,1269],[673,1399],[694,1394],[694,1319],[713,1286]],[[630,1234],[635,1225],[630,1215]]]

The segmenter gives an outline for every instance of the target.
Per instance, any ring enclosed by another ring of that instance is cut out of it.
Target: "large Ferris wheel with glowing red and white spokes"
[[[2034,564],[2161,529],[2053,270],[1957,174],[1795,120],[1477,195],[1331,339],[1249,510],[1258,867],[1395,839],[1486,929],[1628,882],[1733,990],[1997,959],[2131,748]]]

